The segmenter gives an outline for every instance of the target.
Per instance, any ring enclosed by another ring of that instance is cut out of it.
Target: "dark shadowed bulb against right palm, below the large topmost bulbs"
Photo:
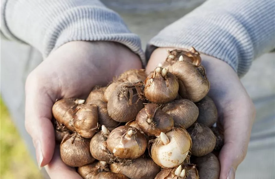
[[[210,97],[205,96],[196,105],[199,109],[197,122],[208,127],[213,126],[218,119],[218,110],[214,101]]]

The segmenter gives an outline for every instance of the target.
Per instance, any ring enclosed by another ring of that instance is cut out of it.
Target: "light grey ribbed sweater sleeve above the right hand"
[[[228,63],[242,77],[253,59],[274,49],[274,0],[208,0],[170,24],[146,48],[190,48]]]

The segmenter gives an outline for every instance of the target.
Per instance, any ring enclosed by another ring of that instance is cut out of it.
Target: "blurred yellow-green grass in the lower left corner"
[[[0,178],[42,179],[0,96]]]

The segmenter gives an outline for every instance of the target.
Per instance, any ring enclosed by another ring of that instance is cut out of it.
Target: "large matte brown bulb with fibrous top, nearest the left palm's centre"
[[[118,85],[108,101],[108,114],[117,122],[132,121],[144,107],[143,100],[132,85],[129,83]]]

